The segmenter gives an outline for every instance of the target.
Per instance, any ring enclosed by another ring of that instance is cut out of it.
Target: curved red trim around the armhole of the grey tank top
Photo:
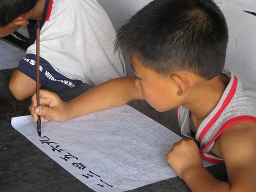
[[[210,158],[204,155],[204,152],[206,151],[206,149],[210,146],[210,144],[217,139],[217,137],[219,137],[219,135],[226,130],[229,126],[231,126],[232,124],[236,123],[236,122],[240,122],[240,121],[252,121],[252,122],[256,122],[256,117],[254,116],[249,116],[249,115],[243,115],[243,116],[236,116],[233,117],[229,120],[227,120],[222,126],[221,128],[218,130],[218,132],[216,133],[216,135],[208,142],[208,144],[206,144],[203,149],[202,149],[202,158],[208,162],[213,162],[213,163],[222,163],[224,162],[223,160],[217,160],[214,158]]]

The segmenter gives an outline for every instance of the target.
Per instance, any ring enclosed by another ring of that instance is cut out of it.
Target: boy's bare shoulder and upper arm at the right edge
[[[218,145],[230,191],[255,191],[256,123],[241,121],[233,124],[221,134]]]

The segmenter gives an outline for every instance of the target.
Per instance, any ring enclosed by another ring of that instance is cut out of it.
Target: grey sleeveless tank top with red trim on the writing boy
[[[184,106],[177,108],[181,133],[196,139],[200,143],[203,159],[213,163],[223,162],[222,158],[210,151],[225,129],[239,121],[256,122],[256,87],[230,69],[224,69],[222,73],[230,77],[230,81],[216,107],[199,125],[195,138],[189,128],[189,110]]]

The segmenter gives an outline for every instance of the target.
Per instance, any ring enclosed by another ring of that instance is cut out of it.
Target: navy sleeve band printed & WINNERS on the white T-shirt
[[[25,58],[19,61],[17,69],[29,76],[36,78],[35,54],[26,54]],[[82,83],[81,80],[74,80],[65,77],[57,72],[44,58],[40,57],[40,84],[56,91],[62,91],[66,88],[73,88]]]

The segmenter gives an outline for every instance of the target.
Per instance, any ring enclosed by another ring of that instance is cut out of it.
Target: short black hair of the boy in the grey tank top
[[[212,0],[154,0],[119,28],[115,51],[136,53],[162,75],[185,70],[211,79],[224,67],[227,42],[224,15]]]

